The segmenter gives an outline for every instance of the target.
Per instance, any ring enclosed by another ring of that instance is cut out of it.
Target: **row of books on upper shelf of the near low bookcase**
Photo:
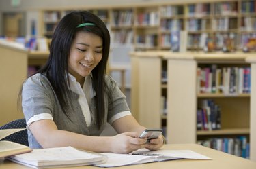
[[[210,67],[197,68],[198,93],[244,94],[250,93],[250,67]]]

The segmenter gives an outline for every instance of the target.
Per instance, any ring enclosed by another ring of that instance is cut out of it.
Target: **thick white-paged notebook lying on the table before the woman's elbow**
[[[32,168],[85,166],[106,162],[105,155],[82,151],[73,147],[33,149],[30,153],[13,155],[7,159]]]

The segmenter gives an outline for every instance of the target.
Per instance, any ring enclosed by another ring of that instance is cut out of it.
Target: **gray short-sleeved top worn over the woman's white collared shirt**
[[[130,112],[126,102],[126,97],[119,90],[117,83],[108,75],[105,76],[105,81],[107,88],[110,90],[111,96],[107,96],[107,94],[105,94],[105,121],[104,125],[102,125],[100,129],[98,129],[98,124],[96,122],[96,106],[94,98],[92,98],[91,104],[89,105],[92,121],[91,125],[87,127],[85,117],[78,101],[79,94],[72,92],[72,97],[70,99],[74,105],[74,111],[69,112],[70,120],[61,110],[51,83],[48,81],[47,77],[41,73],[37,73],[29,77],[23,84],[22,107],[26,121],[29,121],[33,116],[48,113],[53,117],[53,121],[57,125],[58,130],[67,130],[89,136],[99,136],[102,130],[104,130],[106,122],[114,115],[124,111]],[[42,130],[44,129],[42,128]],[[28,130],[28,135],[29,147],[32,149],[42,148],[38,141],[35,140],[30,130]]]

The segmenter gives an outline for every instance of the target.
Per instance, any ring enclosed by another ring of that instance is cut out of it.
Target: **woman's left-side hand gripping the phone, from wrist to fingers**
[[[111,137],[112,153],[130,153],[145,148],[147,139],[139,138],[136,132],[124,132]]]

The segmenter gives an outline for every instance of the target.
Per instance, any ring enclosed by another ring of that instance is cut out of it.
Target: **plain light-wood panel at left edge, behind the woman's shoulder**
[[[23,117],[17,96],[27,77],[27,53],[0,45],[0,126]]]

